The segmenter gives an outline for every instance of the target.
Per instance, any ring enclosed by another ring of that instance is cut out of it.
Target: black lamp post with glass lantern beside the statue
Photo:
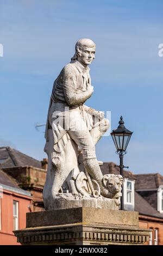
[[[123,177],[123,168],[128,168],[128,166],[123,166],[123,155],[127,153],[126,149],[128,146],[128,143],[130,141],[131,135],[133,132],[126,129],[124,126],[123,117],[121,115],[119,126],[116,130],[112,130],[111,137],[114,141],[115,147],[116,147],[116,153],[120,156],[120,174]],[[123,210],[123,186],[122,186],[122,197],[121,197],[121,210]]]

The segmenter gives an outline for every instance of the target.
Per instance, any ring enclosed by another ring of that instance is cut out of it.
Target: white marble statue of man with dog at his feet
[[[90,39],[77,41],[76,52],[54,81],[49,104],[45,152],[48,170],[45,209],[59,208],[61,200],[115,198],[120,203],[121,175],[104,175],[95,145],[109,128],[103,112],[85,105],[93,93],[88,65],[95,59]]]

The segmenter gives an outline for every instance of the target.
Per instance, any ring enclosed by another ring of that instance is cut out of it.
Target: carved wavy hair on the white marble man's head
[[[74,60],[78,59],[78,55],[77,53],[78,52],[82,52],[83,51],[83,48],[84,47],[94,47],[96,48],[96,44],[95,42],[93,42],[91,39],[87,39],[87,38],[84,38],[84,39],[79,39],[76,43],[76,53],[74,54],[74,56],[71,58],[71,62],[74,62]]]

